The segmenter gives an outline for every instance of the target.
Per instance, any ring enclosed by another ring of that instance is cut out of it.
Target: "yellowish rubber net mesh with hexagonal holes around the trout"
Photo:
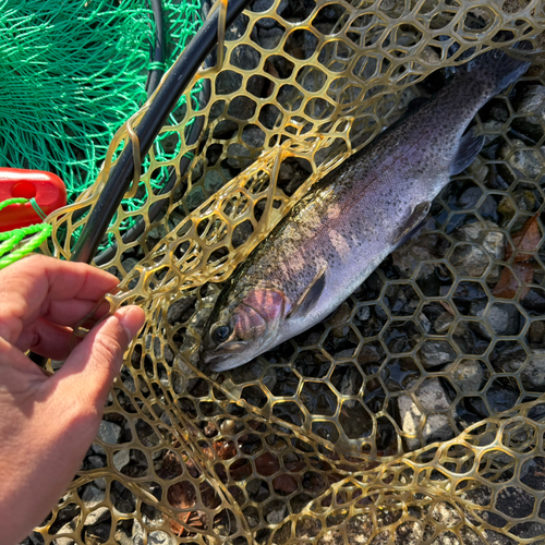
[[[434,73],[433,86],[500,40],[543,50],[544,28],[538,1],[276,0],[244,12],[223,62],[195,77],[210,82],[209,100],[198,111],[186,100],[162,129],[179,152],[162,160],[156,141],[144,206],[120,208],[110,228],[117,254],[104,268],[122,282],[108,299],[142,305],[147,322],[34,543],[543,540],[538,65],[483,108],[481,155],[332,316],[227,373],[203,374],[196,350],[220,282],[315,180],[399,116],[415,83]],[[184,128],[198,117],[191,146]],[[110,157],[126,142],[123,126]],[[152,180],[187,152],[190,170],[150,220]],[[87,217],[77,210],[95,205],[110,166],[49,217],[53,255],[70,256]],[[146,229],[123,244],[131,216]]]

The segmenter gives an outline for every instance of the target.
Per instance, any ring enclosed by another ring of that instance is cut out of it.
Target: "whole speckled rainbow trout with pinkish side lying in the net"
[[[465,129],[528,66],[500,50],[477,57],[316,182],[227,281],[203,332],[202,363],[243,365],[335,311],[473,161],[483,137]]]

